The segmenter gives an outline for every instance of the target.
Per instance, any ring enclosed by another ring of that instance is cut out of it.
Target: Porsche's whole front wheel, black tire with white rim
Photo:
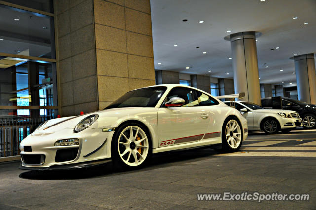
[[[111,156],[115,168],[141,168],[146,165],[151,154],[152,143],[144,126],[126,123],[115,131],[111,143]]]

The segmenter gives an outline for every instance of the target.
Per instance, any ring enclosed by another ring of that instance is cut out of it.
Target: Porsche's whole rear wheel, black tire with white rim
[[[242,144],[242,126],[236,117],[229,117],[224,121],[222,128],[221,152],[236,152]]]

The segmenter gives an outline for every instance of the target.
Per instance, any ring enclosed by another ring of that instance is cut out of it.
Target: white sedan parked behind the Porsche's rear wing
[[[231,102],[225,101],[224,103],[230,105]],[[287,133],[296,127],[302,127],[302,119],[297,112],[284,109],[264,109],[246,101],[235,101],[233,104],[248,120],[249,130],[263,130],[267,134],[276,134],[278,131]]]

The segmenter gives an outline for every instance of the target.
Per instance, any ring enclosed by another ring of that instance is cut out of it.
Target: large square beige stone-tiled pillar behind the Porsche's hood
[[[62,116],[155,85],[150,0],[55,0]]]

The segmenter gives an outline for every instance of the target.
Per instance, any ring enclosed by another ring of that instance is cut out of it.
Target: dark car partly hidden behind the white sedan
[[[316,105],[291,98],[272,97],[261,99],[264,108],[287,109],[299,113],[305,129],[316,129]]]

